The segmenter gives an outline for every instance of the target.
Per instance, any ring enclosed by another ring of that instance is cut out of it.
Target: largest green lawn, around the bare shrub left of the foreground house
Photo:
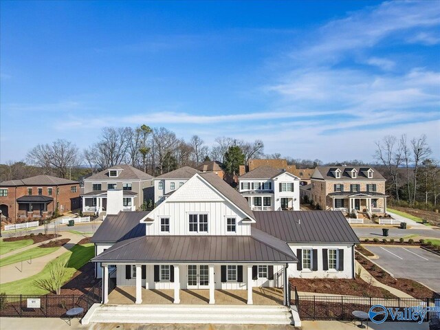
[[[23,280],[2,284],[1,292],[5,292],[5,294],[47,294],[47,290],[34,286],[34,281],[49,278],[50,270],[55,263],[67,263],[67,273],[63,278],[63,283],[66,283],[80,267],[83,267],[94,257],[94,254],[95,248],[92,243],[75,245],[72,250],[61,254],[61,256],[48,263],[39,274],[23,278]]]

